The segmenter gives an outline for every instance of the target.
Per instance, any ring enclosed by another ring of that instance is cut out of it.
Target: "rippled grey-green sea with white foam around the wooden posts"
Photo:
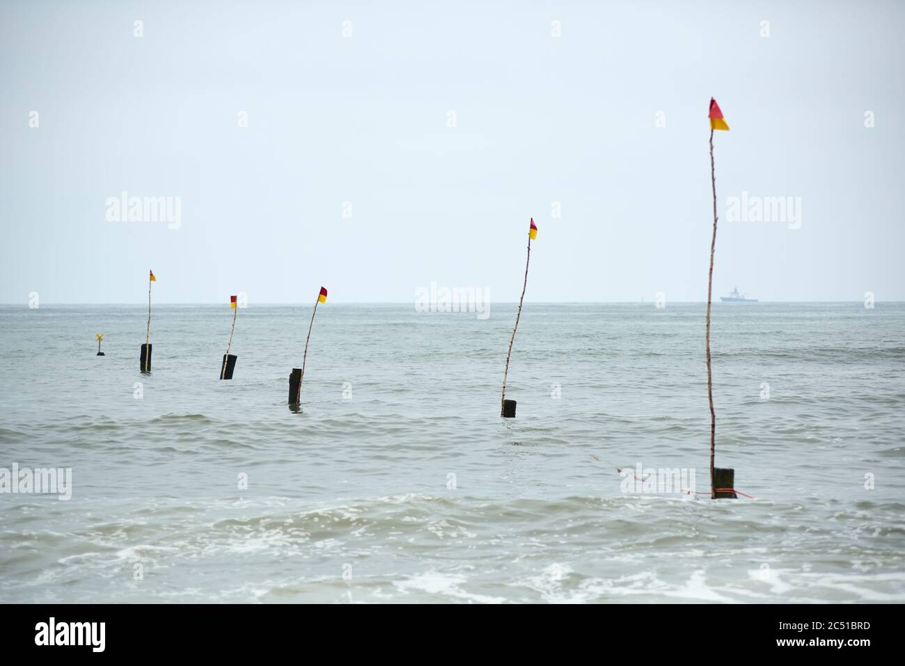
[[[0,308],[0,468],[72,470],[0,494],[0,601],[905,601],[905,305],[714,305],[718,501],[615,470],[709,490],[702,304],[526,304],[503,421],[514,316],[321,307],[294,412],[310,306],[232,381],[228,305],[156,307],[149,376],[146,309]]]

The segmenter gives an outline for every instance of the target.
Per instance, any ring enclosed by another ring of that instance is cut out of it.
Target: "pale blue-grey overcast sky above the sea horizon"
[[[531,217],[528,301],[706,300],[711,96],[714,297],[905,300],[903,28],[894,1],[5,0],[0,302],[138,304],[148,270],[161,303],[514,301]]]

